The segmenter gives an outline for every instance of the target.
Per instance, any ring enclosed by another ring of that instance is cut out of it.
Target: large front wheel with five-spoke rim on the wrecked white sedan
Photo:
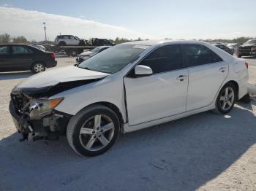
[[[92,157],[108,151],[119,130],[120,122],[115,112],[102,105],[89,106],[69,121],[67,141],[78,155]]]

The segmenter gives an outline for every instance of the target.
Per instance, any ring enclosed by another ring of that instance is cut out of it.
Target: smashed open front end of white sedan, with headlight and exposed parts
[[[59,82],[56,85],[39,88],[15,87],[11,93],[10,113],[18,133],[23,136],[20,141],[26,139],[33,141],[58,140],[59,136],[65,135],[72,115],[54,109],[63,98],[52,100],[48,98],[81,85],[97,82],[100,79]]]

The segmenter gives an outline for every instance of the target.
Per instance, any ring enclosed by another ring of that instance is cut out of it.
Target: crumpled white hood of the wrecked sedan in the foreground
[[[57,85],[60,82],[99,79],[108,75],[109,74],[99,71],[80,69],[76,66],[66,66],[35,74],[28,79],[25,79],[23,82],[20,82],[16,87],[47,87]]]

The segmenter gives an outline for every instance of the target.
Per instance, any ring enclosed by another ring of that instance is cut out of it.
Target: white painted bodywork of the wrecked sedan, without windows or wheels
[[[104,77],[97,82],[53,95],[50,99],[63,97],[64,101],[56,106],[56,110],[72,115],[91,104],[99,102],[113,104],[123,117],[124,133],[214,109],[219,90],[230,81],[238,84],[238,98],[242,98],[247,93],[248,70],[244,64],[245,61],[234,58],[211,44],[191,41],[143,41],[125,44],[151,45],[151,47],[143,51],[136,61],[127,64],[124,69],[115,74],[88,71],[71,66],[67,69],[57,69],[59,72],[51,70],[48,73],[37,74],[34,78],[20,84],[20,87],[49,85],[54,82],[69,81],[69,79]],[[166,44],[202,44],[216,52],[223,62],[197,66],[194,69],[189,67],[168,71],[148,77],[133,79],[126,77],[128,72],[149,52]],[[224,72],[219,71],[222,67],[225,67]],[[183,82],[176,80],[182,74],[187,75],[188,78]],[[45,82],[40,82],[44,80]]]

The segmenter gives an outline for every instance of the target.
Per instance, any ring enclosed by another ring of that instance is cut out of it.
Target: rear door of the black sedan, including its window
[[[16,70],[31,69],[34,52],[30,47],[12,45],[12,67]]]

